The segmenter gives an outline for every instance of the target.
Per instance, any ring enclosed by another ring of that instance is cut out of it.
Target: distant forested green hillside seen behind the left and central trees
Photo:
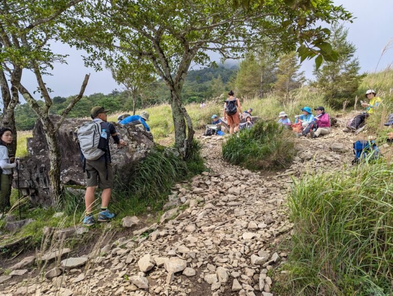
[[[185,103],[202,102],[212,97],[228,92],[235,80],[237,66],[230,68],[224,66],[208,67],[188,72],[182,90],[182,99]],[[60,114],[71,99],[70,97],[56,96],[53,98],[51,114]],[[170,93],[162,81],[152,83],[148,88],[141,90],[137,100],[137,109],[148,105],[169,101]],[[96,105],[103,105],[112,111],[128,111],[133,109],[133,100],[127,91],[113,90],[109,94],[96,93],[84,96],[70,112],[69,117],[86,117]],[[15,109],[16,128],[19,131],[31,130],[37,116],[27,103],[20,104]]]

